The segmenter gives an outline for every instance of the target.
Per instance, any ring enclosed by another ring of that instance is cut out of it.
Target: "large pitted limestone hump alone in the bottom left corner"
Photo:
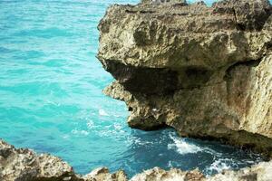
[[[36,155],[0,140],[0,180],[74,180],[73,168],[58,157]]]

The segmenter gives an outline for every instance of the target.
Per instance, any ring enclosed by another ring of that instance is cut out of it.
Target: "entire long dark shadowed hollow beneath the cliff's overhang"
[[[207,85],[214,72],[199,66],[170,70],[135,67],[116,61],[103,61],[102,64],[132,94],[172,95],[177,90],[199,89],[222,83],[220,81]]]

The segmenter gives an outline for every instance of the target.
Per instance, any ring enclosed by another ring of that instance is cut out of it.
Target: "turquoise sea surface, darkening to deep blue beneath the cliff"
[[[210,175],[260,161],[172,129],[127,126],[125,104],[102,94],[112,76],[95,58],[96,27],[113,3],[138,1],[0,1],[0,138],[62,157],[81,174],[104,166],[129,176],[151,167]]]

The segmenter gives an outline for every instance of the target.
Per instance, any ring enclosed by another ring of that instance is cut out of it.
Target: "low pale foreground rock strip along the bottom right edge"
[[[243,168],[239,171],[225,170],[215,176],[203,176],[198,170],[189,172],[180,169],[165,171],[159,167],[146,170],[133,176],[131,181],[271,181],[272,162],[260,163],[253,167]]]

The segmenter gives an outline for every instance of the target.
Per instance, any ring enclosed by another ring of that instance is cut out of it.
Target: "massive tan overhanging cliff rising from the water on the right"
[[[272,155],[272,7],[267,0],[112,5],[98,59],[136,129],[170,126]]]

